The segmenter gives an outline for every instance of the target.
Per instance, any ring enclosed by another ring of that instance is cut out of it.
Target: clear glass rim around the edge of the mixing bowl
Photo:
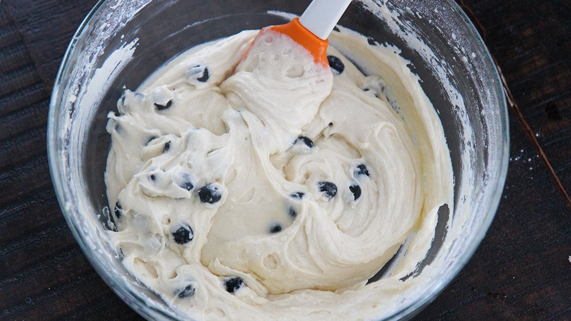
[[[468,260],[472,258],[474,252],[480,245],[481,240],[484,238],[496,214],[498,205],[501,200],[502,191],[505,186],[505,179],[508,173],[510,143],[509,117],[505,90],[501,82],[500,74],[498,73],[496,64],[494,63],[494,59],[490,54],[488,47],[485,45],[485,42],[481,38],[480,33],[478,33],[475,25],[473,25],[464,10],[454,0],[445,1],[450,6],[452,14],[457,15],[457,17],[461,19],[461,22],[463,22],[463,25],[467,27],[467,31],[469,32],[470,37],[476,41],[475,47],[481,49],[481,53],[483,54],[481,57],[482,62],[484,63],[484,66],[489,67],[485,69],[486,74],[488,74],[489,79],[494,80],[494,85],[493,88],[491,88],[491,91],[492,93],[496,94],[498,98],[497,110],[499,111],[498,119],[500,119],[500,129],[498,129],[498,133],[502,134],[502,140],[501,142],[497,142],[497,144],[498,146],[503,147],[501,151],[500,149],[497,149],[498,153],[501,154],[501,159],[497,162],[499,166],[494,167],[496,168],[496,172],[490,173],[489,183],[490,185],[496,186],[496,188],[493,189],[493,194],[490,193],[490,195],[488,195],[489,202],[485,202],[485,204],[488,205],[488,208],[486,208],[485,213],[482,211],[482,215],[485,215],[485,219],[482,221],[480,229],[474,234],[475,238],[469,242],[469,245],[464,250],[463,255],[453,263],[451,274],[449,274],[447,278],[442,279],[441,282],[433,283],[434,286],[432,287],[431,291],[427,293],[429,295],[425,295],[422,299],[416,300],[409,306],[404,307],[400,311],[397,311],[395,314],[387,316],[387,319],[412,318],[412,316],[420,312],[422,308],[426,307],[433,300],[435,300],[437,295],[443,291],[444,288],[448,286],[448,284],[451,283],[452,279],[456,277],[456,275],[465,266]],[[57,129],[57,119],[59,116],[56,113],[58,110],[58,98],[61,95],[61,91],[65,89],[62,81],[65,76],[65,72],[70,68],[70,58],[75,53],[75,50],[78,50],[78,39],[89,27],[91,19],[93,19],[99,10],[106,5],[111,5],[109,0],[99,0],[83,19],[81,25],[79,25],[77,31],[75,31],[73,38],[67,46],[66,52],[62,59],[62,63],[59,66],[59,70],[55,78],[54,87],[51,93],[47,122],[47,154],[50,175],[60,208],[68,226],[70,227],[70,230],[82,248],[83,253],[91,263],[91,266],[94,267],[104,282],[109,287],[111,287],[111,289],[123,300],[123,302],[125,302],[128,306],[130,306],[133,310],[135,310],[143,317],[147,319],[176,319],[175,315],[168,314],[167,311],[163,311],[146,304],[146,301],[139,293],[130,291],[130,287],[119,286],[118,281],[115,280],[114,276],[103,266],[103,264],[98,259],[95,258],[92,253],[93,248],[87,245],[85,236],[81,234],[79,228],[75,225],[72,215],[70,215],[70,209],[66,208],[66,204],[70,202],[70,196],[66,192],[65,176],[63,175],[65,172],[65,168],[63,166],[65,166],[66,161],[65,156],[59,153],[60,151],[57,148],[58,137],[55,131]],[[59,101],[59,103],[61,103],[61,101]],[[91,251],[87,251],[87,248],[90,248]]]

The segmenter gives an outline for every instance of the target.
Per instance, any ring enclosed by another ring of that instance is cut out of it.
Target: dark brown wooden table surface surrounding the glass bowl
[[[571,319],[571,2],[465,0],[513,94],[510,167],[476,254],[417,319]],[[135,319],[61,214],[51,89],[95,0],[0,3],[0,319]]]

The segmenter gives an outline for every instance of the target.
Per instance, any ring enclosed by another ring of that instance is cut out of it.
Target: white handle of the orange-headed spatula
[[[313,0],[299,23],[320,39],[327,39],[351,0]]]

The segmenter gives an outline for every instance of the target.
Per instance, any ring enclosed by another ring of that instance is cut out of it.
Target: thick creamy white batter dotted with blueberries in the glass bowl
[[[276,35],[239,63],[257,32],[182,54],[109,114],[112,241],[192,318],[384,316],[451,203],[437,114],[392,48],[333,31],[324,68]]]

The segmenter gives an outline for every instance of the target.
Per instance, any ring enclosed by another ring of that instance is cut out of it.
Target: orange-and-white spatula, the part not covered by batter
[[[326,51],[329,42],[327,37],[349,6],[349,3],[351,3],[351,0],[313,0],[300,18],[294,18],[285,25],[265,27],[260,30],[256,39],[263,37],[268,32],[287,35],[307,49],[316,63],[328,67],[329,62],[327,61]],[[254,45],[256,39],[252,42],[252,45]],[[244,57],[248,55],[248,51],[246,51]]]

